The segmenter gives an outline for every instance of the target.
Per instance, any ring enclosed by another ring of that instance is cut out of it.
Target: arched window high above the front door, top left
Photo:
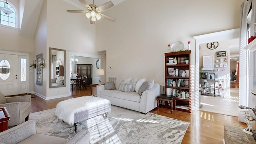
[[[6,7],[6,1],[0,0],[0,7]],[[0,24],[17,28],[16,9],[9,2],[7,8],[12,10],[14,13],[5,14],[2,10],[0,10]]]

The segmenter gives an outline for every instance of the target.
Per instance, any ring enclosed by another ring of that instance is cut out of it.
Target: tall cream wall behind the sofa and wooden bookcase
[[[187,47],[191,41],[194,65],[192,36],[238,28],[242,2],[126,0],[105,13],[116,22],[96,22],[96,51],[107,50],[107,76],[154,78],[164,84],[167,45],[181,41]]]

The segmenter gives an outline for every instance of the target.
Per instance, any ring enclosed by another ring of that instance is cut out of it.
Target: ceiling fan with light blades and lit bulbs
[[[116,19],[112,18],[110,16],[107,16],[105,14],[99,13],[102,12],[103,10],[107,10],[108,8],[111,8],[112,6],[114,6],[114,4],[109,1],[106,2],[105,4],[102,4],[100,6],[96,6],[94,4],[94,0],[93,0],[93,4],[87,4],[86,1],[84,0],[79,0],[86,8],[88,8],[89,11],[84,11],[84,10],[67,10],[68,12],[72,12],[72,13],[85,13],[87,18],[90,18],[90,22],[91,24],[95,24],[96,20],[100,20],[100,18],[105,18],[107,20],[110,20],[112,22],[115,22]]]

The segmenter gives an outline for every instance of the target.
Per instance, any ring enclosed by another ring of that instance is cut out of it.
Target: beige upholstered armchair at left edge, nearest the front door
[[[31,96],[5,97],[0,92],[0,107],[5,107],[10,115],[8,126],[16,126],[28,120],[31,112]]]

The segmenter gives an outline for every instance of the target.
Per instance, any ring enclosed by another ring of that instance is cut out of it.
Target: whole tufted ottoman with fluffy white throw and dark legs
[[[59,102],[55,114],[70,126],[74,125],[75,132],[77,132],[78,122],[100,114],[104,114],[106,119],[110,106],[109,100],[95,96],[83,96]]]

